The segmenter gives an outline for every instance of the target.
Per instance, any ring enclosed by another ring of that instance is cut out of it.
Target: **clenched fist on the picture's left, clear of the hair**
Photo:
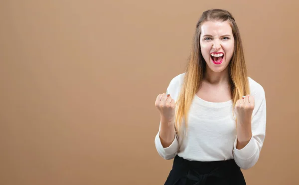
[[[159,94],[154,106],[159,110],[163,122],[173,122],[175,114],[175,101],[166,93]]]

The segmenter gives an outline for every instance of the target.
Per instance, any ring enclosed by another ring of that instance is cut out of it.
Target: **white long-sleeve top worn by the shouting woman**
[[[175,76],[167,92],[177,101],[185,73]],[[266,98],[263,87],[248,77],[250,94],[254,96],[252,138],[241,150],[236,148],[237,129],[233,118],[233,101],[208,102],[194,96],[188,116],[187,135],[175,134],[172,144],[163,148],[159,131],[155,137],[158,154],[166,159],[176,155],[190,161],[223,161],[234,159],[241,169],[253,167],[260,156],[266,132]],[[180,136],[181,137],[181,136]]]

